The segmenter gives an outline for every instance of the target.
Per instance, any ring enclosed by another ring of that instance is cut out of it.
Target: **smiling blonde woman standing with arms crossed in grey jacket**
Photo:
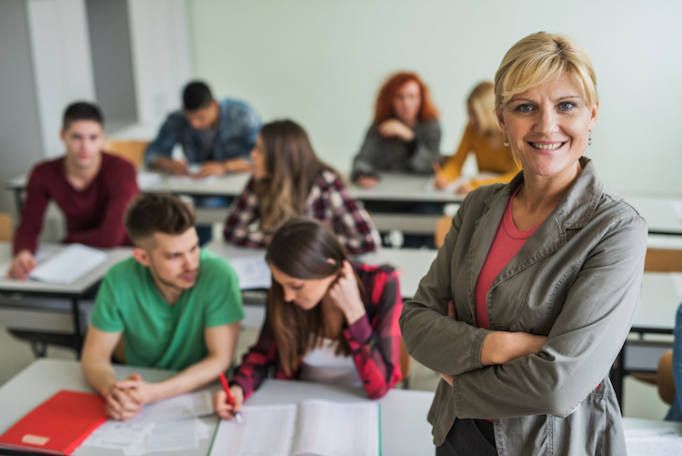
[[[627,454],[608,372],[639,305],[647,224],[583,156],[594,68],[540,32],[506,53],[495,95],[523,171],[466,197],[400,318],[407,350],[443,378],[436,454]]]

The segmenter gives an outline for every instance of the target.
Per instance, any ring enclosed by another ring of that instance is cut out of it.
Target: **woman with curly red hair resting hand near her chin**
[[[438,111],[416,73],[390,76],[376,97],[374,122],[353,163],[353,180],[374,187],[377,171],[428,174],[440,158]]]

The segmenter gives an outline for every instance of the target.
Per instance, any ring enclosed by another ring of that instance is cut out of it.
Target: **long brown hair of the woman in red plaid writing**
[[[296,279],[325,279],[338,273],[347,258],[346,248],[329,227],[314,218],[305,217],[291,218],[279,228],[266,254],[268,264]],[[304,310],[286,302],[284,289],[273,279],[267,296],[267,315],[275,335],[279,360],[286,375],[291,375],[310,348],[311,335],[316,346],[325,332],[322,307],[317,305]],[[343,334],[337,340],[336,354],[350,355],[350,346]]]

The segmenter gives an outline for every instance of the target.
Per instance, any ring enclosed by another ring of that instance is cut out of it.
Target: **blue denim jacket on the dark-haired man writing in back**
[[[225,98],[218,102],[220,120],[213,160],[248,157],[256,144],[261,122],[251,106],[238,100]],[[185,150],[190,164],[202,163],[208,159],[206,138],[189,125],[182,111],[170,114],[158,132],[156,139],[145,150],[145,165],[151,166],[158,157],[171,157],[173,147],[179,143]]]

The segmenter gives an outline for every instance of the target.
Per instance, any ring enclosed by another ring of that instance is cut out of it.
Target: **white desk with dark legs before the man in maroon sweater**
[[[41,250],[58,252],[65,245],[45,244]],[[46,319],[38,322],[40,326],[56,326],[59,321],[54,320],[54,312],[45,314],[45,306],[40,301],[45,299],[67,299],[70,304],[71,319],[73,321],[73,348],[80,351],[82,343],[83,325],[80,320],[79,302],[92,295],[99,286],[99,282],[115,263],[130,257],[132,248],[105,248],[108,258],[95,269],[87,272],[80,279],[69,284],[45,283],[36,280],[5,279],[5,273],[0,274],[0,316],[3,326],[14,326],[12,320],[22,319],[30,315],[31,319]],[[8,242],[0,242],[0,265],[6,265],[12,259],[12,248]],[[37,301],[36,301],[37,299]],[[32,302],[35,301],[35,305]],[[58,305],[57,305],[58,306]],[[63,307],[63,306],[62,306]],[[43,312],[41,316],[41,312]],[[50,328],[54,329],[54,328]],[[43,332],[43,331],[41,331]],[[59,332],[51,330],[48,332]],[[63,337],[61,339],[64,339]]]

